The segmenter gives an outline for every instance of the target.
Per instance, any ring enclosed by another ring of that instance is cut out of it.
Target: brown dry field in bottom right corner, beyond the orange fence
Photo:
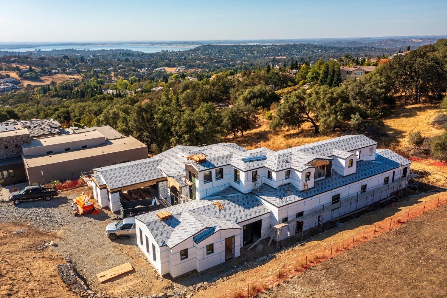
[[[446,297],[446,224],[441,206],[257,297]]]

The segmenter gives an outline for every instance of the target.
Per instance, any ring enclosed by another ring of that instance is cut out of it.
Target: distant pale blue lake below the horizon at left
[[[14,52],[27,52],[27,51],[51,51],[51,50],[63,50],[63,49],[76,49],[76,50],[116,50],[116,49],[129,49],[133,51],[142,51],[144,53],[155,53],[159,51],[186,51],[190,50],[198,45],[193,44],[143,44],[143,43],[126,43],[126,44],[93,44],[93,45],[62,45],[62,46],[41,46],[41,47],[22,47],[18,49],[7,48],[3,46],[0,51],[14,51]]]

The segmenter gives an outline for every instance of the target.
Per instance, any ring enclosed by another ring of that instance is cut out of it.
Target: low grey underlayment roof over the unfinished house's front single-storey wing
[[[213,202],[220,202],[219,209]],[[160,220],[155,212],[135,217],[148,226],[149,231],[159,246],[173,246],[181,243],[206,228],[216,226],[216,230],[240,228],[238,222],[269,213],[261,202],[252,194],[241,194],[228,187],[212,197],[192,200],[158,211],[168,210],[173,216]]]

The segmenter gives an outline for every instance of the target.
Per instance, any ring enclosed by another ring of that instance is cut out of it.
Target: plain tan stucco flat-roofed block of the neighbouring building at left
[[[94,129],[35,139],[22,149],[30,183],[74,180],[93,168],[148,158],[148,147],[134,137],[106,139]]]

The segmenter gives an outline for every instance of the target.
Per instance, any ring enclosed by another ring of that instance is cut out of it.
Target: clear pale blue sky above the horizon
[[[0,0],[0,43],[447,34],[446,0]]]

